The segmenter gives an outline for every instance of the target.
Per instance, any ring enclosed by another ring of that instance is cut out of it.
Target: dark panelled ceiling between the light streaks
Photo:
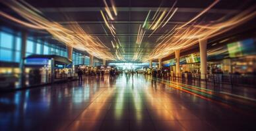
[[[100,10],[105,11],[102,0],[26,0],[26,2],[42,11],[49,20],[58,22],[67,28],[70,24],[73,24],[73,21],[78,22],[86,33],[98,37],[106,47],[110,48],[110,52],[115,54],[115,48],[112,47],[113,36],[100,14]],[[110,1],[107,0],[107,2]],[[111,23],[116,29],[115,37],[118,37],[124,49],[124,52],[121,52],[123,58],[126,61],[133,61],[135,50],[138,48],[136,42],[139,26],[143,26],[148,11],[151,10],[151,14],[154,14],[158,7],[170,10],[175,1],[115,0],[114,2],[117,16]],[[152,52],[158,37],[166,34],[176,25],[185,24],[213,2],[214,0],[177,0],[175,7],[178,9],[166,26],[157,29],[154,33],[150,30],[145,32],[141,42],[141,48],[143,49],[141,58]],[[221,0],[195,22],[207,23],[218,20],[228,14],[238,13],[240,10],[246,9],[251,3],[254,3],[254,1]],[[148,37],[151,33],[152,35]],[[39,36],[51,37],[49,33],[40,33]]]

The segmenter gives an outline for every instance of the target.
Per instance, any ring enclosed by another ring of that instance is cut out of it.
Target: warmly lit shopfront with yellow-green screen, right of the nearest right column
[[[243,39],[208,50],[209,73],[254,74],[256,71],[255,39]]]

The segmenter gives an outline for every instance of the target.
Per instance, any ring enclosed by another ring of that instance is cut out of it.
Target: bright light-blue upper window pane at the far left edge
[[[13,35],[5,32],[1,32],[1,47],[12,48],[13,47]]]

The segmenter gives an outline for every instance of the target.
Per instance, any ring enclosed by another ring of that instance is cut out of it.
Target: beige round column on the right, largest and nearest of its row
[[[207,75],[207,39],[199,40],[199,48],[200,48],[201,79],[206,79],[206,75]]]

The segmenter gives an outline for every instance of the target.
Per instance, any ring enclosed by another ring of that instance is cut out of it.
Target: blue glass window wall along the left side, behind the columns
[[[0,30],[0,62],[19,63],[22,39],[20,35],[17,35],[18,33],[13,33],[11,29],[8,30],[9,31],[3,31],[3,29]],[[28,37],[26,44],[26,56],[31,54],[55,54],[67,57],[67,49],[65,47],[54,45],[54,43],[48,43],[48,41],[41,41],[40,39]],[[73,50],[73,64],[89,65],[90,58],[84,56],[82,52]]]

